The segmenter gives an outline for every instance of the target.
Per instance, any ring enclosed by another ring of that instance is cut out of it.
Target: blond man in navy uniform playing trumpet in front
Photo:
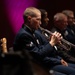
[[[15,37],[14,50],[28,50],[37,62],[39,61],[49,69],[74,75],[75,65],[65,62],[54,49],[54,45],[61,40],[61,34],[54,32],[51,40],[42,44],[40,40],[44,37],[40,34],[37,37],[34,33],[40,27],[41,12],[35,7],[29,7],[24,11],[23,17],[24,26]]]

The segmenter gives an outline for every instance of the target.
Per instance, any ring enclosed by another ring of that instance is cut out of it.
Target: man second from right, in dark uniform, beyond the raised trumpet
[[[56,13],[54,15],[54,27],[52,28],[52,31],[58,31],[62,34],[63,38],[71,43],[75,43],[75,35],[71,32],[71,30],[67,27],[67,16],[63,13]],[[75,57],[75,49],[74,47],[71,47],[70,51],[68,51],[68,54]]]

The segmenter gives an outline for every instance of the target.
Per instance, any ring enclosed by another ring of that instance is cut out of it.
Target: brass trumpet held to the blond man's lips
[[[45,37],[48,39],[49,37],[50,37],[50,35],[53,35],[53,33],[51,32],[51,31],[49,31],[49,30],[47,30],[47,29],[44,29],[44,28],[42,28],[42,27],[40,27],[40,29],[42,30],[42,33],[44,34],[44,33],[48,33],[49,35],[48,36],[46,36],[45,34]],[[72,43],[70,43],[69,41],[67,41],[67,40],[65,40],[65,39],[61,39],[61,42],[58,44],[60,47],[62,47],[63,49],[65,49],[65,50],[70,50],[71,49],[71,47],[73,47],[73,48],[75,48],[75,45],[74,44],[72,44]]]

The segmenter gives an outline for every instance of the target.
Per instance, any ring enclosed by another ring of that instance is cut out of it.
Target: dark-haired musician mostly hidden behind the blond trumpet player
[[[45,28],[47,25],[48,25],[48,22],[49,22],[49,18],[48,18],[48,13],[46,10],[44,9],[40,9],[41,11],[41,21],[43,22],[40,26],[40,28],[38,30],[36,30],[36,32],[41,32],[43,34],[43,36],[45,36],[45,39],[42,41],[42,44],[47,42],[47,40],[49,40],[49,37],[50,37],[50,33],[45,31],[46,29],[42,29]],[[47,14],[46,14],[47,13]],[[72,57],[70,54],[68,54],[64,48],[60,47],[59,45],[56,45],[56,49],[58,50],[58,54],[63,57],[67,62],[70,62],[70,63],[75,63],[75,58]]]

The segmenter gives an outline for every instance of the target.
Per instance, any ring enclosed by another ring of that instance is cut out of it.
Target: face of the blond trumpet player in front
[[[41,13],[37,13],[35,17],[30,17],[30,27],[34,30],[38,29],[41,24]]]

